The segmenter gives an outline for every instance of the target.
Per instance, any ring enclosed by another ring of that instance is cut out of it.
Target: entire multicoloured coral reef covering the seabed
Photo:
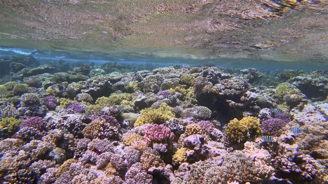
[[[2,183],[328,183],[325,72],[69,68],[0,81]]]

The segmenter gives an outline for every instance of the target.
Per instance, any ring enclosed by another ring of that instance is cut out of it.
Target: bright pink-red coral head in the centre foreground
[[[153,142],[169,142],[174,140],[174,133],[165,125],[148,125],[145,129],[144,141],[148,144]]]

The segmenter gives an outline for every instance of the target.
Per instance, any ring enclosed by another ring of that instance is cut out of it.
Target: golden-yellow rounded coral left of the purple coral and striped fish
[[[240,121],[231,120],[226,128],[227,136],[231,141],[244,142],[253,140],[255,136],[262,135],[261,124],[255,117],[244,117]]]

